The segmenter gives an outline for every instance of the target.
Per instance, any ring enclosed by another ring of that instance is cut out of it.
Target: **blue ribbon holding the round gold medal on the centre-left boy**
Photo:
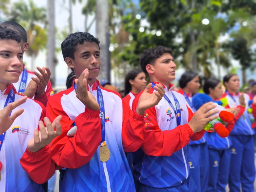
[[[77,85],[76,83],[74,83],[74,89],[77,90]],[[100,106],[100,119],[101,119],[101,142],[100,142],[100,146],[106,146],[106,141],[105,141],[105,122],[108,120],[105,119],[105,108],[104,108],[104,101],[103,101],[103,96],[102,96],[102,92],[100,89],[100,86],[97,84],[97,99],[98,99],[98,103]],[[73,123],[73,126],[75,126],[76,124]]]

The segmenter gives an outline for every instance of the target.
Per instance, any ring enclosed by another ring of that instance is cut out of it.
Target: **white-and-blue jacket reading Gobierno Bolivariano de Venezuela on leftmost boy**
[[[0,93],[0,109],[4,108],[7,95],[13,88],[15,101],[24,97],[17,93],[13,85]],[[42,185],[32,181],[20,165],[20,158],[27,148],[28,141],[34,137],[34,130],[38,128],[38,121],[46,116],[45,107],[42,103],[28,98],[27,101],[12,110],[12,114],[24,109],[10,128],[6,131],[3,146],[0,152],[0,161],[3,164],[1,170],[0,191],[44,191]]]

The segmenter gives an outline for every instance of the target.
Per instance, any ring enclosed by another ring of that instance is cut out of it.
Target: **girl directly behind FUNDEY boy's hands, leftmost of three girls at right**
[[[193,71],[186,71],[179,79],[179,93],[184,95],[187,105],[195,113],[196,110],[192,104],[192,96],[200,88],[199,76]],[[207,133],[198,140],[189,143],[189,169],[191,177],[194,179],[199,191],[206,191],[209,172],[209,156],[207,146]]]

